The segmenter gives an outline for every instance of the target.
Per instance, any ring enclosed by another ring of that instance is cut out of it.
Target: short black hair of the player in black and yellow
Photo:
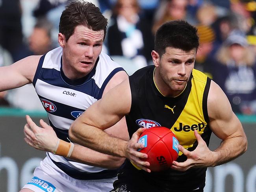
[[[166,22],[156,31],[155,51],[160,57],[165,53],[167,47],[190,51],[193,48],[198,49],[198,46],[197,28],[184,20]]]

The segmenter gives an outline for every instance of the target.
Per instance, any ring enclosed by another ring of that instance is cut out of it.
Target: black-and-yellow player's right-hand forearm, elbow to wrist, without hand
[[[247,150],[247,139],[243,136],[228,138],[221,142],[219,148],[214,150],[215,161],[212,166],[224,164],[236,159]]]

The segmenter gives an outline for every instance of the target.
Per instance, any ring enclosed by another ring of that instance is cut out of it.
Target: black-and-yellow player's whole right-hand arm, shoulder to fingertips
[[[221,145],[211,151],[195,131],[197,148],[194,151],[187,151],[179,145],[179,150],[187,156],[187,160],[185,162],[174,161],[173,169],[185,171],[195,166],[217,166],[235,159],[247,150],[247,138],[243,127],[233,113],[223,90],[213,81],[211,81],[208,94],[208,115],[210,128],[222,140]]]

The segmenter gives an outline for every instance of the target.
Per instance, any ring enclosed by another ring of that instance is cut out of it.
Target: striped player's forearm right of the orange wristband
[[[74,150],[71,156],[69,157],[69,159],[72,159],[77,162],[81,162],[83,164],[102,167],[106,169],[119,168],[124,162],[124,158],[106,155],[106,154],[91,150],[89,148],[85,148],[78,144],[75,144]]]

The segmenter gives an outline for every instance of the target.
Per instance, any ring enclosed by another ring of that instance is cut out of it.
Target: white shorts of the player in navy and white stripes
[[[46,160],[46,159],[45,159]],[[109,192],[117,177],[99,180],[78,180],[65,174],[59,168],[41,161],[35,168],[34,177],[23,188],[34,192]]]

